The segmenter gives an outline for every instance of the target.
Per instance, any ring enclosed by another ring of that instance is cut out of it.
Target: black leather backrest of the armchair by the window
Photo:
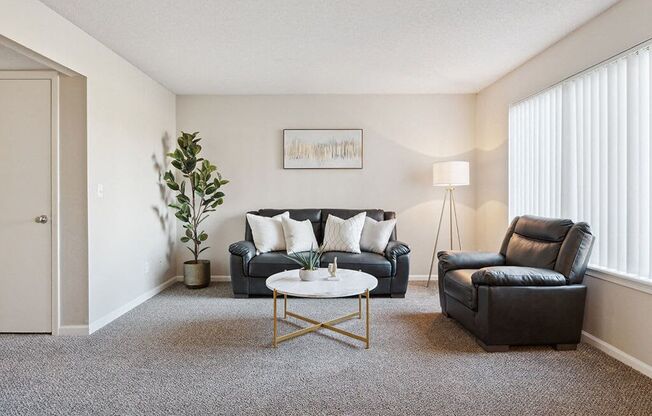
[[[594,237],[585,222],[530,215],[512,221],[500,248],[509,266],[555,270],[569,283],[581,283]]]

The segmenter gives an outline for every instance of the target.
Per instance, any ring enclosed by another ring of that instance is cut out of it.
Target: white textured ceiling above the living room
[[[617,0],[42,0],[177,94],[472,93]]]

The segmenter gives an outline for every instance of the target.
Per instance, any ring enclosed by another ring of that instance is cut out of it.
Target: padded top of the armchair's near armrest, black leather
[[[536,267],[486,267],[471,275],[474,285],[484,286],[566,286],[566,277],[554,270]]]

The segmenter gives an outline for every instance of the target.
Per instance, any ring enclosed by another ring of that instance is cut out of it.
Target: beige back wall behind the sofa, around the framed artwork
[[[427,274],[443,196],[431,186],[432,162],[473,162],[474,107],[475,95],[179,96],[178,128],[200,131],[204,156],[231,180],[206,222],[213,274],[228,274],[228,245],[243,239],[246,211],[302,207],[397,211],[398,238],[413,250],[411,274]],[[364,129],[364,169],[284,170],[285,128]],[[470,249],[473,191],[458,196]]]

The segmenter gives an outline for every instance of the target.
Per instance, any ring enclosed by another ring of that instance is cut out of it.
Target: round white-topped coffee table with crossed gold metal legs
[[[296,338],[301,335],[315,332],[318,329],[328,329],[338,334],[345,335],[350,338],[357,339],[365,343],[365,348],[369,348],[369,291],[378,286],[378,280],[368,273],[355,270],[338,269],[337,277],[339,280],[329,280],[328,270],[319,269],[321,274],[320,279],[313,281],[303,281],[299,279],[299,270],[286,270],[281,273],[271,275],[265,281],[267,288],[274,293],[274,337],[272,345],[276,347],[279,343]],[[283,319],[288,316],[300,319],[304,322],[312,324],[309,327],[299,329],[286,335],[277,334],[277,317],[276,317],[276,297],[283,295]],[[295,312],[290,312],[287,309],[288,296],[299,298],[343,298],[349,296],[358,296],[358,311],[340,316],[339,318],[331,319],[326,322],[319,322],[315,319],[299,315]],[[366,306],[366,333],[365,336],[357,335],[349,331],[345,331],[336,327],[335,325],[348,321],[349,319],[358,318],[362,319],[362,295],[365,295]]]

